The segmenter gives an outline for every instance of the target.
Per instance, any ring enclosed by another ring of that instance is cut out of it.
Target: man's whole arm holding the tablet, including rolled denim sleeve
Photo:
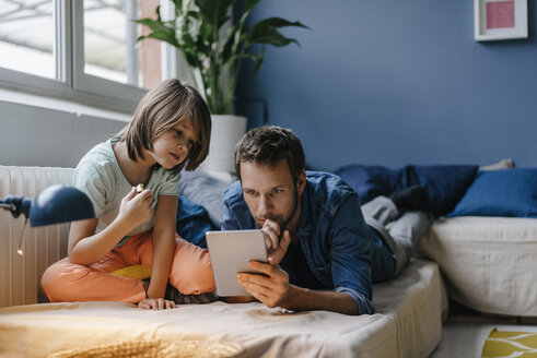
[[[334,291],[314,291],[289,284],[289,275],[276,264],[252,262],[267,277],[241,273],[240,284],[269,307],[292,310],[329,310],[346,314],[372,314],[371,264],[373,243],[358,196],[350,196],[335,215],[329,232]],[[277,263],[277,262],[276,262]]]

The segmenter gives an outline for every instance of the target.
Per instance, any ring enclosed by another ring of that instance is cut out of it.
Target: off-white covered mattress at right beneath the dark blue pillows
[[[455,301],[481,312],[537,315],[537,219],[436,220],[420,249],[439,263]]]

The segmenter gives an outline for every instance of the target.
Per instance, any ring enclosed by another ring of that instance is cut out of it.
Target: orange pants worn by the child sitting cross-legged
[[[184,295],[214,291],[209,252],[176,237],[170,284]],[[124,301],[137,303],[145,298],[143,282],[113,275],[127,266],[153,263],[153,231],[131,237],[91,266],[65,258],[48,267],[42,288],[50,302]]]

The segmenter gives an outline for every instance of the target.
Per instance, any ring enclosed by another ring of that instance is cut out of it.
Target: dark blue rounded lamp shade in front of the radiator
[[[30,225],[44,226],[95,217],[93,204],[82,191],[60,184],[43,190],[30,207]]]

